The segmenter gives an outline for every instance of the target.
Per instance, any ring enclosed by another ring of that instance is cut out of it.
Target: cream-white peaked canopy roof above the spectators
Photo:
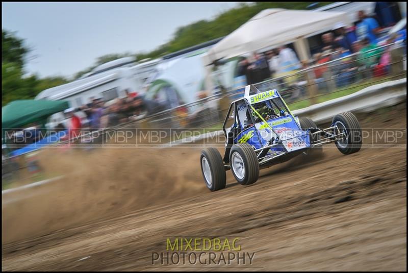
[[[214,45],[208,52],[206,62],[211,64],[219,59],[282,45],[318,31],[331,29],[338,23],[349,26],[346,13],[266,9]]]

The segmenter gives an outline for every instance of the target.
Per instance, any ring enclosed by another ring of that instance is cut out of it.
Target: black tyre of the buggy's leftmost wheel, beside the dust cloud
[[[205,160],[203,160],[203,158],[205,158]],[[203,169],[203,164],[205,164],[204,163],[205,161],[207,161],[209,165],[211,181],[207,180],[205,171]],[[210,147],[205,148],[204,150],[201,151],[200,166],[202,177],[206,182],[207,188],[209,188],[211,191],[216,191],[225,188],[226,173],[224,168],[224,162],[222,162],[221,155],[216,148]]]

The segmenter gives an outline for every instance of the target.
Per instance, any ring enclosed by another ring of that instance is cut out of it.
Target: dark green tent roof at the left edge
[[[69,107],[65,101],[17,100],[2,107],[2,129],[19,128]]]

